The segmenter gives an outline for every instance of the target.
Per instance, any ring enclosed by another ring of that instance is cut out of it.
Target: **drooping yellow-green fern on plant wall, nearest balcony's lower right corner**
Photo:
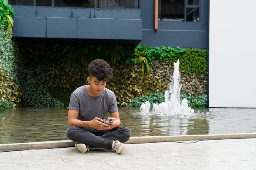
[[[146,58],[147,56],[147,52],[146,51],[137,51],[135,53],[135,55],[137,56],[135,59],[132,59],[133,63],[135,64],[139,64],[139,66],[141,67],[142,69],[142,73],[144,73],[144,68],[146,67],[147,69],[147,74],[149,74],[150,72],[150,67],[149,67],[149,64],[148,64],[148,60]]]

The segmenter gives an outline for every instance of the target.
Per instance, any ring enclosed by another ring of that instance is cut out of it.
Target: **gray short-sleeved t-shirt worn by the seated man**
[[[107,112],[112,114],[118,111],[116,98],[111,90],[104,88],[98,97],[92,97],[87,92],[86,86],[77,88],[71,94],[67,108],[79,112],[78,120],[90,121],[95,117],[103,120]]]

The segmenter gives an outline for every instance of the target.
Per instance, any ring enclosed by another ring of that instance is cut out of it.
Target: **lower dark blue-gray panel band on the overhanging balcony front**
[[[141,20],[14,17],[13,37],[141,40]]]

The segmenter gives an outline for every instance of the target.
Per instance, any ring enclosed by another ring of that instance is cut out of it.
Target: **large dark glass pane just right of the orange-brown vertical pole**
[[[162,21],[184,21],[184,0],[161,0],[160,19]]]

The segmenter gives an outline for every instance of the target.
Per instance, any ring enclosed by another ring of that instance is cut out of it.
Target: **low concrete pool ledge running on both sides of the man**
[[[175,142],[175,141],[238,139],[238,138],[256,138],[256,133],[131,137],[126,143],[131,144],[131,143],[172,142],[172,141]],[[18,151],[18,150],[27,150],[27,149],[61,148],[61,147],[73,147],[73,146],[74,146],[74,142],[71,140],[0,144],[0,152]]]

